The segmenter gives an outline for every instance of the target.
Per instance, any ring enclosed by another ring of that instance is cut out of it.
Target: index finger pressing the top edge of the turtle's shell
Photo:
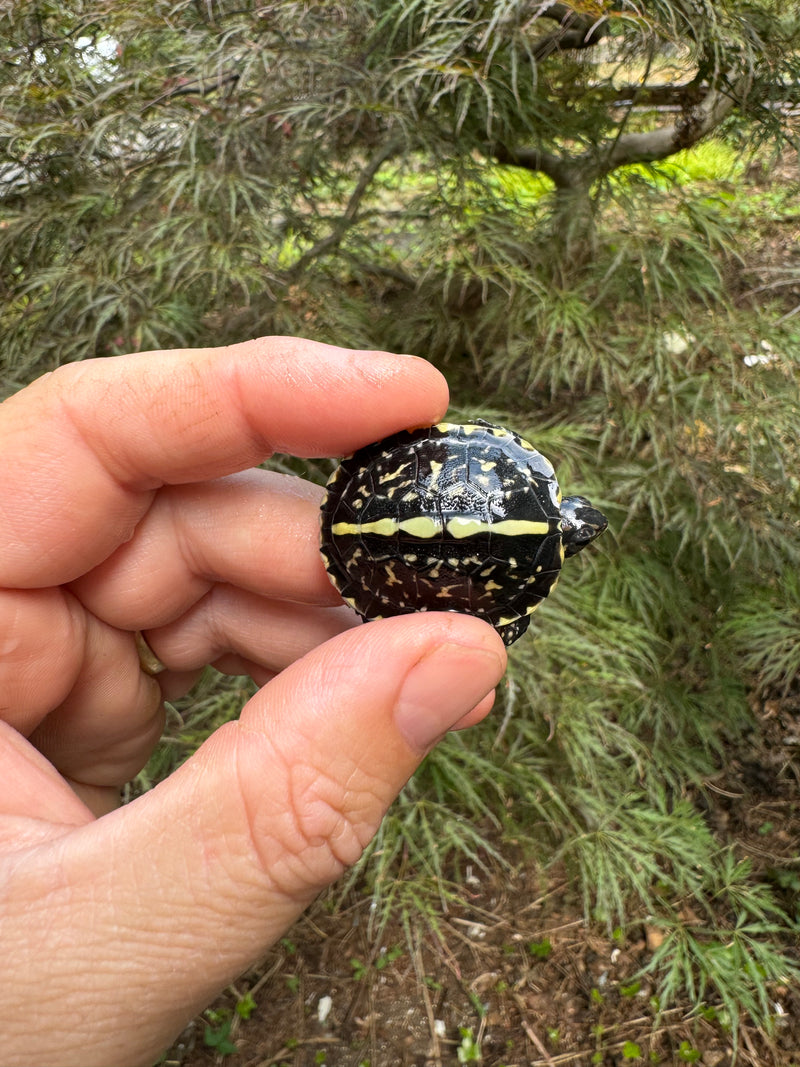
[[[0,586],[96,566],[164,483],[338,456],[446,407],[423,360],[293,337],[60,367],[0,405]]]

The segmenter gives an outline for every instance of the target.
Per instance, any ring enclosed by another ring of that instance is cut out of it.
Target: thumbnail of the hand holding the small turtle
[[[427,751],[497,685],[505,662],[489,649],[444,643],[405,675],[395,722],[409,744]]]

